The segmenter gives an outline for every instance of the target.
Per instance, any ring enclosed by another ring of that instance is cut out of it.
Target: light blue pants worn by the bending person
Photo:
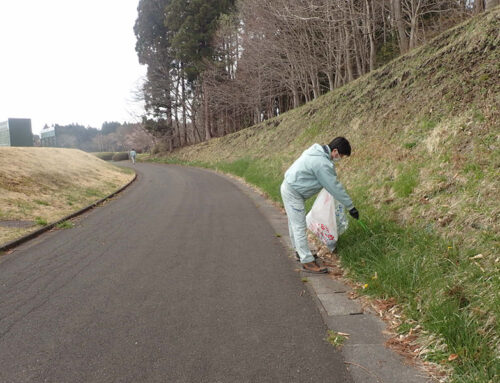
[[[301,263],[314,261],[307,243],[306,205],[304,198],[285,181],[281,184],[281,198],[288,217],[288,231],[292,247],[297,251]]]

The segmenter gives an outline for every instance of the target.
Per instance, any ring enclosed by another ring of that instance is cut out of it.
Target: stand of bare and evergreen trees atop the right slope
[[[498,0],[141,0],[146,127],[173,147],[241,130],[387,63]]]

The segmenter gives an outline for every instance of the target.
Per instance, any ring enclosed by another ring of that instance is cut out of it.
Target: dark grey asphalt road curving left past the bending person
[[[0,258],[0,382],[351,382],[247,196],[136,168],[75,228]]]

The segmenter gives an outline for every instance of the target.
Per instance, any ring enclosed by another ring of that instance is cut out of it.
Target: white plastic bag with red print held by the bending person
[[[322,189],[306,216],[307,228],[323,242],[330,251],[335,250],[339,236],[347,230],[345,207]]]

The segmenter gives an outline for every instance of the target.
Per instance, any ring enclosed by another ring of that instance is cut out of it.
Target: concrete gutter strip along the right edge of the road
[[[243,191],[271,223],[276,236],[290,249],[288,220],[272,202],[236,177],[223,175]],[[294,270],[300,265],[290,249],[290,264]],[[352,289],[330,275],[314,275],[300,272],[307,278],[304,283],[315,300],[328,329],[350,334],[341,352],[344,363],[354,383],[431,383],[434,380],[385,346],[388,336],[386,324],[374,313],[363,309],[359,300],[350,299]],[[326,337],[326,334],[325,334]],[[333,347],[333,346],[332,346]]]

